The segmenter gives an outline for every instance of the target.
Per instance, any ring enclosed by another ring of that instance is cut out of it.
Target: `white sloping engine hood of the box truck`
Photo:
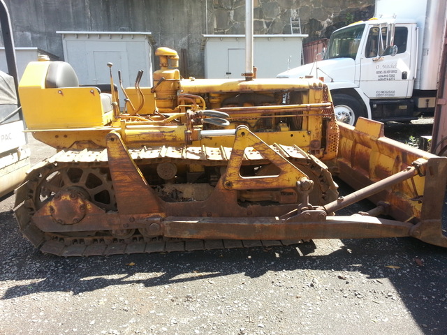
[[[317,61],[312,64],[291,68],[277,75],[278,78],[300,78],[312,75],[316,78],[324,77],[324,82],[353,82],[356,62],[351,58],[334,58]]]

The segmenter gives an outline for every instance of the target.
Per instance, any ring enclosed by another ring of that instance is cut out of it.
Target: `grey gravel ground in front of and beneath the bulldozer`
[[[0,202],[1,335],[447,332],[447,252],[416,239],[58,258],[12,207]]]

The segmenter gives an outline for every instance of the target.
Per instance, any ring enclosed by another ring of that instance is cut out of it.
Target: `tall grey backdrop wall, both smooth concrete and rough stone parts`
[[[180,63],[184,77],[204,75],[203,34],[244,34],[245,0],[5,2],[17,47],[38,47],[63,59],[56,31],[150,31],[156,47],[172,47],[186,56]],[[254,34],[290,34],[290,17],[299,15],[309,40],[374,13],[374,0],[254,0],[254,6]]]

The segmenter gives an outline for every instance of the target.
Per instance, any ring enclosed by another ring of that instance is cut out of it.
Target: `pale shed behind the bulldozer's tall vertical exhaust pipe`
[[[302,40],[306,34],[255,35],[256,77],[274,78],[302,65]],[[245,72],[244,35],[203,35],[206,78],[242,78]]]

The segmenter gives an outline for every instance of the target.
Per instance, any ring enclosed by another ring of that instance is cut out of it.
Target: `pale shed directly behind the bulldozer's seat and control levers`
[[[64,59],[71,64],[80,84],[110,82],[107,64],[112,66],[114,82],[122,72],[124,87],[133,87],[138,70],[144,70],[140,86],[152,87],[154,40],[149,32],[138,31],[57,31],[61,34]],[[123,101],[119,89],[120,101]]]

